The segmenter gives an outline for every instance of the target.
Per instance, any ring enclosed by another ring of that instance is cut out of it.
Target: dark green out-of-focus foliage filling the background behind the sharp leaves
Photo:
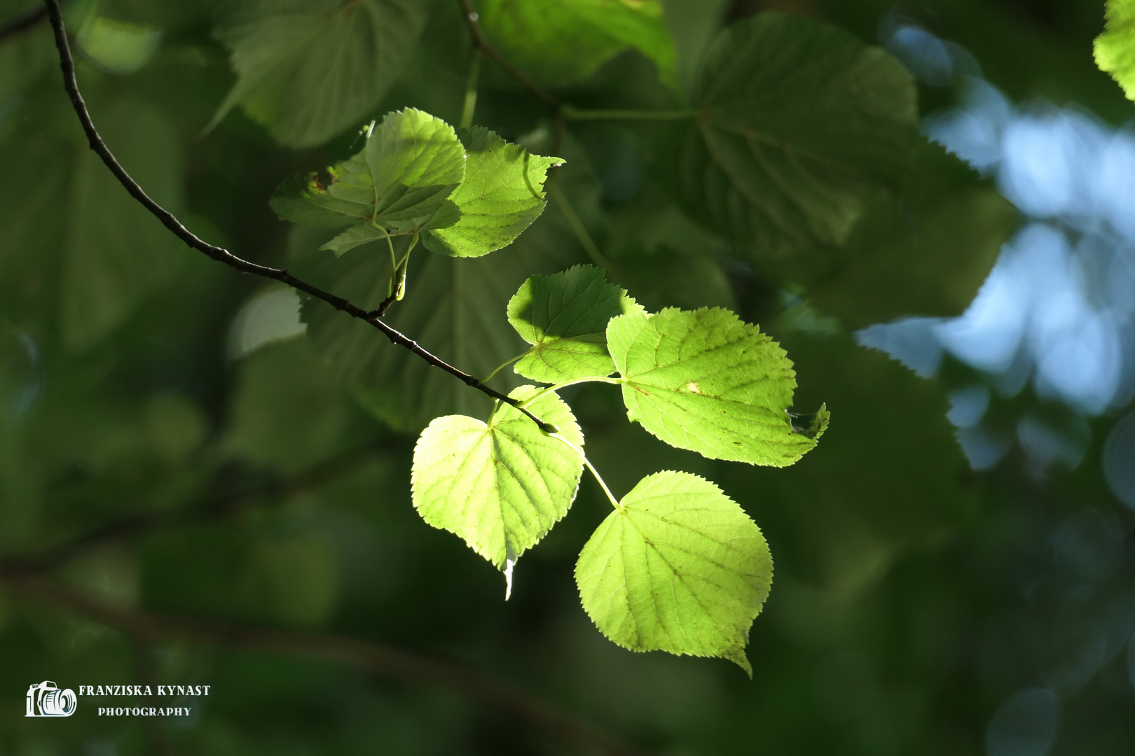
[[[832,411],[823,442],[787,469],[669,447],[624,422],[614,387],[563,393],[616,496],[681,470],[714,479],[759,524],[775,575],[749,637],[753,681],[723,661],[632,654],[596,631],[572,580],[609,511],[590,479],[502,602],[499,575],[414,512],[409,475],[407,432],[445,414],[485,418],[489,402],[321,303],[302,303],[304,335],[294,299],[257,311],[272,287],[166,233],[86,150],[42,23],[0,41],[0,567],[141,523],[67,552],[48,575],[118,611],[470,664],[673,756],[1133,753],[1135,527],[1108,479],[1135,461],[1117,461],[1107,441],[1129,435],[1130,416],[1112,433],[1119,417],[1084,418],[1031,389],[994,392],[994,432],[1011,438],[1035,417],[1082,453],[1037,468],[1015,449],[975,473],[947,397],[983,379],[949,358],[918,377],[852,335],[900,315],[960,313],[1017,222],[992,186],[918,136],[918,116],[962,93],[916,85],[869,46],[881,29],[914,19],[967,49],[1012,99],[1075,100],[1118,124],[1129,103],[1092,61],[1101,3],[474,5],[489,37],[578,108],[718,112],[715,76],[742,96],[728,122],[561,129],[484,58],[473,122],[564,158],[553,180],[568,204],[549,203],[487,257],[415,256],[389,322],[486,375],[524,349],[505,318],[524,279],[599,263],[595,245],[645,307],[734,307],[780,341],[797,406]],[[0,0],[0,27],[36,7]],[[146,192],[213,244],[361,306],[381,301],[385,254],[364,245],[336,261],[319,250],[330,232],[291,228],[268,198],[286,176],[350,156],[358,129],[392,110],[460,121],[473,45],[456,1],[73,0],[66,14],[95,122]],[[791,44],[798,17],[831,24],[830,45],[882,70],[885,91],[866,80],[851,96],[813,70],[816,56]],[[772,105],[762,97],[791,76],[701,65],[758,32],[784,44],[776,67],[802,77]],[[889,113],[885,129],[848,120],[865,100]],[[821,188],[818,173],[780,180],[784,144],[839,155],[855,147],[852,126],[871,147],[851,155],[860,173],[822,176]],[[758,127],[782,162],[746,163]],[[718,143],[735,150],[715,156]],[[772,231],[738,197],[787,209],[776,244],[753,244]],[[494,379],[499,390],[519,383],[510,371]],[[121,632],[0,575],[0,754],[579,753],[445,686]],[[99,717],[85,697],[70,719],[25,719],[24,694],[40,680],[212,693],[153,704],[194,706],[184,721]]]

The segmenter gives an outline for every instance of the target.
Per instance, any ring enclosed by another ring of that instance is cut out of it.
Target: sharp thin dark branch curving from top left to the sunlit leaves
[[[440,357],[434,356],[423,349],[417,341],[385,323],[376,313],[367,312],[358,305],[347,301],[343,297],[337,297],[334,294],[323,291],[322,289],[292,275],[287,269],[281,270],[278,267],[268,267],[267,265],[258,265],[257,263],[237,257],[227,249],[216,247],[208,241],[202,240],[185,228],[171,212],[151,199],[142,187],[138,186],[137,181],[131,178],[131,175],[126,172],[126,169],[118,163],[114,153],[110,152],[106,142],[102,141],[98,129],[94,128],[94,121],[91,120],[91,113],[87,111],[86,103],[83,101],[83,95],[78,91],[78,80],[75,78],[75,60],[72,58],[70,45],[67,43],[67,29],[64,27],[62,14],[59,11],[59,0],[44,0],[44,2],[47,3],[48,12],[51,17],[51,26],[56,33],[56,48],[59,49],[59,66],[64,73],[64,87],[67,90],[68,96],[70,96],[72,104],[75,107],[75,113],[78,116],[79,122],[83,125],[83,130],[86,133],[87,143],[90,144],[91,150],[93,150],[94,153],[102,159],[102,162],[107,164],[107,168],[109,168],[110,172],[115,175],[115,178],[118,179],[119,184],[121,184],[126,190],[129,192],[131,196],[137,199],[143,207],[149,210],[159,221],[161,221],[162,226],[169,229],[174,236],[179,238],[193,249],[203,253],[219,263],[225,263],[229,267],[236,269],[242,273],[251,273],[253,275],[260,275],[261,278],[279,281],[280,283],[286,283],[287,286],[311,295],[317,299],[322,299],[339,312],[344,312],[352,317],[358,317],[359,320],[371,324],[381,331],[382,334],[390,340],[390,343],[409,349],[428,364],[434,367],[442,368],[446,373],[457,377],[466,385],[477,389],[481,393],[516,407],[533,423],[539,425],[540,430],[545,433],[557,432],[556,427],[550,423],[545,423],[527,408],[519,407],[519,400],[512,399],[495,389],[490,389],[474,376],[454,367],[453,365],[449,365]]]

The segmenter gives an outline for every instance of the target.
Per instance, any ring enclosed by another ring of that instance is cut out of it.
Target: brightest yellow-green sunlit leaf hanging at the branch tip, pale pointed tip
[[[526,385],[510,396],[524,399],[537,391]],[[528,407],[582,447],[571,409],[554,392]],[[488,423],[464,415],[430,423],[414,447],[411,487],[422,519],[508,570],[568,513],[582,470],[575,450],[501,402]]]

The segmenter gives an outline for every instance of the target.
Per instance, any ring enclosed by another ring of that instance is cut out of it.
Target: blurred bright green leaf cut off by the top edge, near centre
[[[627,48],[654,60],[674,83],[674,45],[661,0],[485,0],[489,37],[536,78],[568,84],[586,78]]]

